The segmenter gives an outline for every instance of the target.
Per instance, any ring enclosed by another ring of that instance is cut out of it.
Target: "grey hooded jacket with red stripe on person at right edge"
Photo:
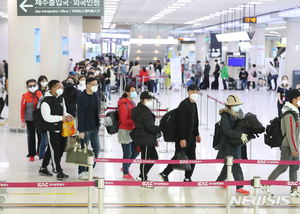
[[[291,152],[298,152],[299,148],[299,110],[290,102],[286,102],[282,108],[282,114],[287,113],[281,118],[281,132],[285,136],[282,146],[288,146]]]

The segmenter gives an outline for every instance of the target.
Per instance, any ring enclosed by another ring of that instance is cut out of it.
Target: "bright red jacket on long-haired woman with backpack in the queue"
[[[126,103],[126,104],[123,104]],[[131,109],[135,105],[127,98],[121,98],[118,101],[118,111],[119,111],[119,129],[133,130],[134,122],[131,119]]]

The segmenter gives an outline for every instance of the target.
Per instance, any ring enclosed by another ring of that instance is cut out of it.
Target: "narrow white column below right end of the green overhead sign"
[[[73,64],[82,59],[82,17],[70,16],[69,24],[70,55]]]

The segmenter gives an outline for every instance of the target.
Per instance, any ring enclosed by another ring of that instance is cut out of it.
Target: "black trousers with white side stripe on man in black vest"
[[[50,158],[52,159],[53,169],[56,172],[61,172],[61,132],[47,131],[49,145],[43,160],[42,167],[46,168],[49,165]]]

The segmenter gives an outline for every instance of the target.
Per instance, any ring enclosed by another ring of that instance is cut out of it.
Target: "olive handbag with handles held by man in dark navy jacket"
[[[89,150],[84,142],[84,148],[79,146],[79,137],[76,139],[76,143],[71,147],[66,154],[66,162],[73,163],[80,166],[89,166],[88,157],[95,156],[92,150]]]

